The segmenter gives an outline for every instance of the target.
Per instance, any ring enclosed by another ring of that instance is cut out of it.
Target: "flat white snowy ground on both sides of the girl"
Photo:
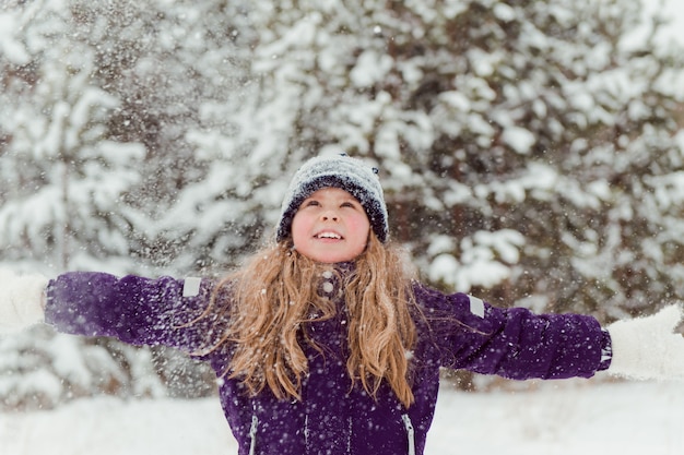
[[[534,392],[443,391],[428,455],[681,454],[684,384],[542,383]],[[237,453],[216,399],[97,398],[0,414],[3,455]]]

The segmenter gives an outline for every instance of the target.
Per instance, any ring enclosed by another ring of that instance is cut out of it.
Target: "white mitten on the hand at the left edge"
[[[43,321],[48,278],[0,268],[0,333],[17,332]]]

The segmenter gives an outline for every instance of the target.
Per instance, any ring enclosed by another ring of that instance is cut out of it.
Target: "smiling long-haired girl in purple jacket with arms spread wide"
[[[677,307],[602,328],[417,283],[388,241],[375,172],[319,157],[276,242],[220,280],[0,273],[0,323],[167,345],[210,362],[239,454],[422,454],[439,369],[512,379],[684,376]]]

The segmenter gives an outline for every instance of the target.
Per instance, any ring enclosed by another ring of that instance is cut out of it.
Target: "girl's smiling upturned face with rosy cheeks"
[[[292,219],[295,249],[323,263],[355,259],[365,249],[370,221],[361,203],[339,188],[323,188],[308,196]]]

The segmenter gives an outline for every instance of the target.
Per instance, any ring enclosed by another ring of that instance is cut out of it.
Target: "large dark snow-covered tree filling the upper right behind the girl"
[[[248,11],[258,94],[202,153],[366,156],[394,238],[446,288],[610,316],[681,297],[681,52],[638,3],[272,7]]]

